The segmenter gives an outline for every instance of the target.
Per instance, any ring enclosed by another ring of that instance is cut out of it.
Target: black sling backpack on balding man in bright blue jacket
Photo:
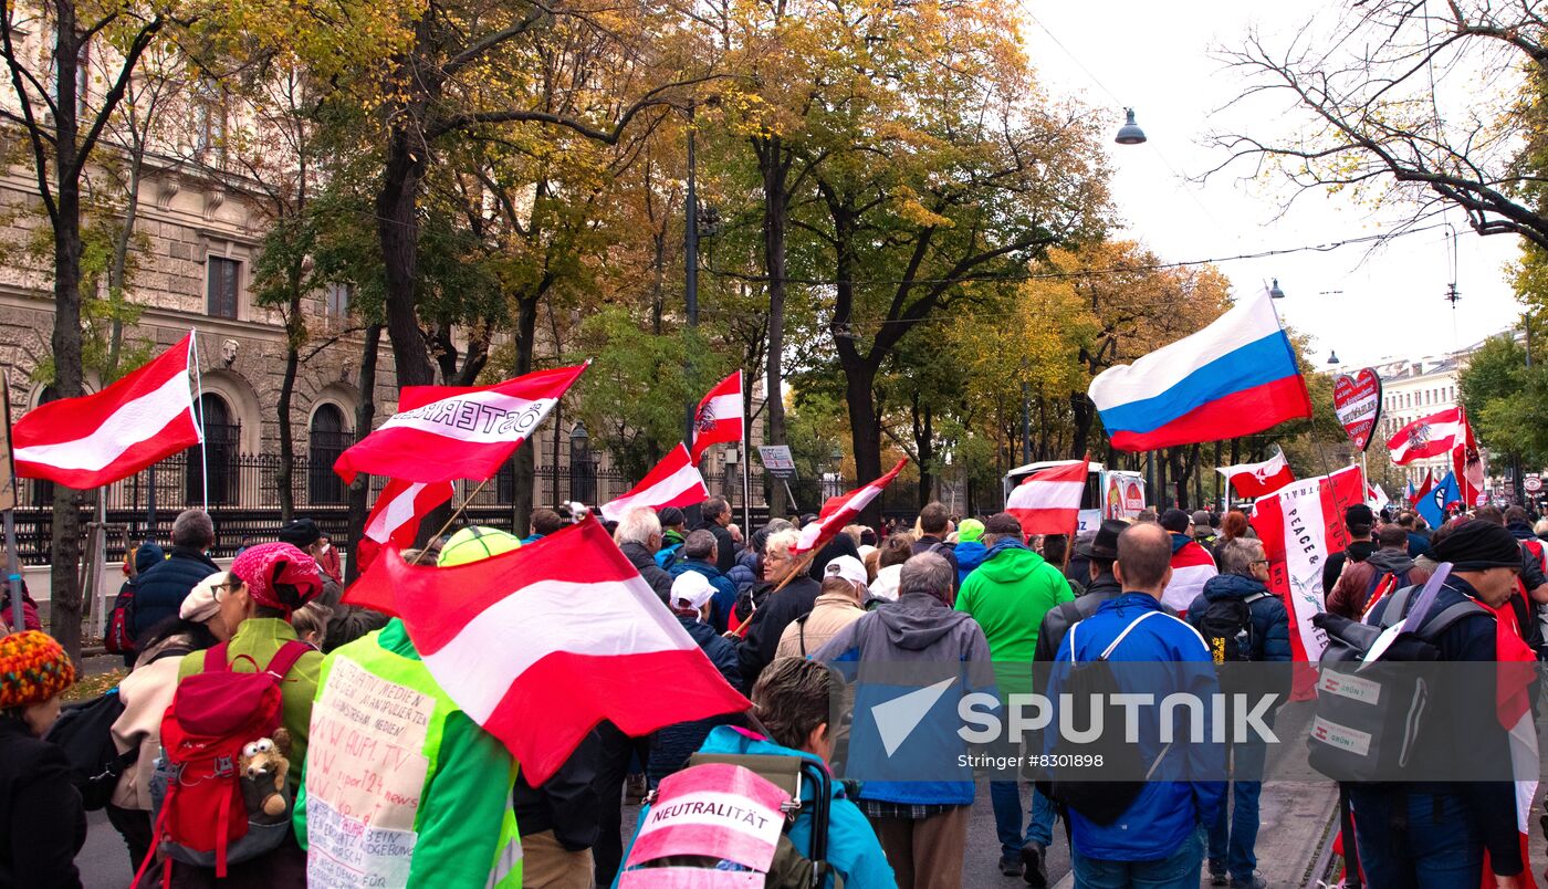
[[[1107,658],[1113,655],[1118,643],[1124,641],[1141,621],[1146,618],[1159,615],[1161,612],[1146,612],[1135,618],[1124,632],[1118,633],[1107,649],[1091,661],[1077,661],[1074,657],[1076,650],[1076,630],[1081,624],[1070,627],[1070,672],[1065,686],[1060,689],[1060,698],[1068,702],[1068,706],[1074,708],[1071,714],[1071,725],[1088,726],[1093,723],[1091,706],[1093,702],[1111,702],[1115,695],[1121,694],[1122,689],[1118,685],[1118,677],[1113,675],[1113,668],[1108,664]],[[1084,623],[1084,621],[1082,621]],[[1105,703],[1105,706],[1118,709],[1113,703]],[[1107,714],[1105,725],[1122,725],[1122,714],[1110,712]],[[1116,722],[1115,722],[1116,719]],[[1084,815],[1087,819],[1096,824],[1111,824],[1139,799],[1139,791],[1146,787],[1146,779],[1155,771],[1155,767],[1161,762],[1161,757],[1167,754],[1172,745],[1161,748],[1156,754],[1155,762],[1146,767],[1144,759],[1139,756],[1139,745],[1136,743],[1101,743],[1101,751],[1098,753],[1096,745],[1076,743],[1059,733],[1054,748],[1051,751],[1051,762],[1054,764],[1077,764],[1091,756],[1101,756],[1101,774],[1099,781],[1084,779],[1082,774],[1091,774],[1091,768],[1079,768],[1076,765],[1070,767],[1053,767],[1048,771],[1048,777],[1039,781],[1039,788],[1048,795],[1054,802],[1073,808]]]

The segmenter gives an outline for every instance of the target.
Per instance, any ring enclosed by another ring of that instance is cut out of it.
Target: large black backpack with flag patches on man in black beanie
[[[1413,760],[1430,705],[1427,674],[1375,664],[1438,661],[1435,643],[1441,633],[1461,620],[1489,613],[1466,601],[1426,616],[1449,573],[1450,565],[1443,564],[1423,590],[1395,590],[1379,623],[1331,613],[1313,618],[1328,633],[1317,661],[1317,708],[1307,739],[1307,759],[1322,774],[1334,781],[1396,781]],[[1361,671],[1382,632],[1399,624],[1404,629],[1396,641],[1378,652],[1372,669]]]

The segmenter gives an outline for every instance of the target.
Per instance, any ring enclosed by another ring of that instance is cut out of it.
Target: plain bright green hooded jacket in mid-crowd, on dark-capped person
[[[1043,616],[1070,601],[1074,593],[1059,568],[1020,541],[1003,539],[995,541],[985,562],[963,582],[957,610],[978,621],[997,663],[1028,664]]]

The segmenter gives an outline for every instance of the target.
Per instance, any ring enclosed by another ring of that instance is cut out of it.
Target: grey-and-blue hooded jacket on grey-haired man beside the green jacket
[[[995,685],[989,643],[966,612],[954,610],[926,593],[906,593],[896,602],[867,612],[844,627],[811,657],[834,664],[851,681],[862,663],[941,664],[943,675],[960,678],[957,688],[961,692],[943,694],[935,700],[930,716],[920,720],[909,736],[907,748],[896,759],[876,753],[856,754],[875,751],[881,745],[875,722],[858,719],[850,734],[850,759],[851,773],[862,776],[861,799],[910,805],[972,805],[972,768],[958,760],[968,753],[968,745],[957,734],[957,706],[966,694],[995,694]],[[853,712],[870,714],[876,705],[895,697],[898,694],[893,686],[858,683]],[[907,781],[910,764],[916,768],[920,762],[930,762],[932,770],[938,764],[960,762],[957,781]],[[862,764],[862,768],[854,768],[854,764]]]

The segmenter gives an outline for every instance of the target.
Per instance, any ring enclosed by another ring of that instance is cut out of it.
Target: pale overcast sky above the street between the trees
[[[1254,25],[1282,46],[1311,17],[1313,5],[1033,0],[1026,9],[1036,19],[1026,33],[1028,53],[1051,94],[1074,93],[1113,108],[1115,121],[1122,105],[1133,105],[1150,139],[1118,146],[1108,135],[1113,200],[1128,226],[1122,237],[1175,262],[1328,243],[1390,228],[1390,215],[1378,218],[1347,197],[1320,192],[1300,197],[1288,217],[1274,221],[1288,192],[1241,183],[1241,170],[1217,175],[1206,186],[1186,181],[1218,160],[1204,146],[1207,132],[1272,138],[1293,125],[1293,118],[1262,110],[1251,112],[1252,118],[1246,110],[1215,113],[1243,87],[1223,70],[1215,50],[1238,46]],[[1446,352],[1505,330],[1520,313],[1503,269],[1517,256],[1517,240],[1472,234],[1460,211],[1449,218],[1460,232],[1461,302],[1455,311],[1444,299],[1452,271],[1450,235],[1443,231],[1407,235],[1370,256],[1367,245],[1356,245],[1221,262],[1220,268],[1237,293],[1279,277],[1286,293],[1277,304],[1280,318],[1314,338],[1319,364],[1330,350],[1344,364]]]

